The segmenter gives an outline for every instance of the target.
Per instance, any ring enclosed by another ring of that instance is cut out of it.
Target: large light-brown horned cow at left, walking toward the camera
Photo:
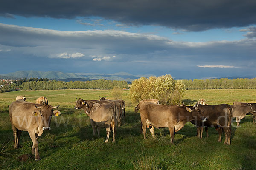
[[[58,105],[59,106],[59,105]],[[41,136],[44,130],[50,130],[52,115],[58,116],[60,111],[53,109],[58,106],[39,105],[35,103],[17,100],[9,106],[10,121],[12,124],[14,136],[14,148],[20,147],[20,135],[22,131],[27,131],[33,142],[32,154],[35,154],[35,160],[40,160],[38,153],[38,136]]]

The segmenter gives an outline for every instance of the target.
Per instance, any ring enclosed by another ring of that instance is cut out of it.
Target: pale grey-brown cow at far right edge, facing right
[[[232,105],[231,107],[233,108],[233,111],[234,111],[233,112],[233,117],[236,118],[236,125],[237,126],[240,125],[241,119],[243,119],[247,113],[256,112],[256,109],[253,108],[253,106],[249,103],[247,105],[244,105],[244,106]]]

